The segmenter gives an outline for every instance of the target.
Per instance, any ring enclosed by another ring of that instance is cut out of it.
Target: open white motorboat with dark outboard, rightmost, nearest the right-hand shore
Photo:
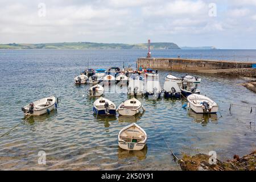
[[[195,113],[215,114],[218,111],[218,105],[216,102],[208,97],[201,96],[199,94],[191,94],[187,97],[187,100],[188,107],[195,111]]]

